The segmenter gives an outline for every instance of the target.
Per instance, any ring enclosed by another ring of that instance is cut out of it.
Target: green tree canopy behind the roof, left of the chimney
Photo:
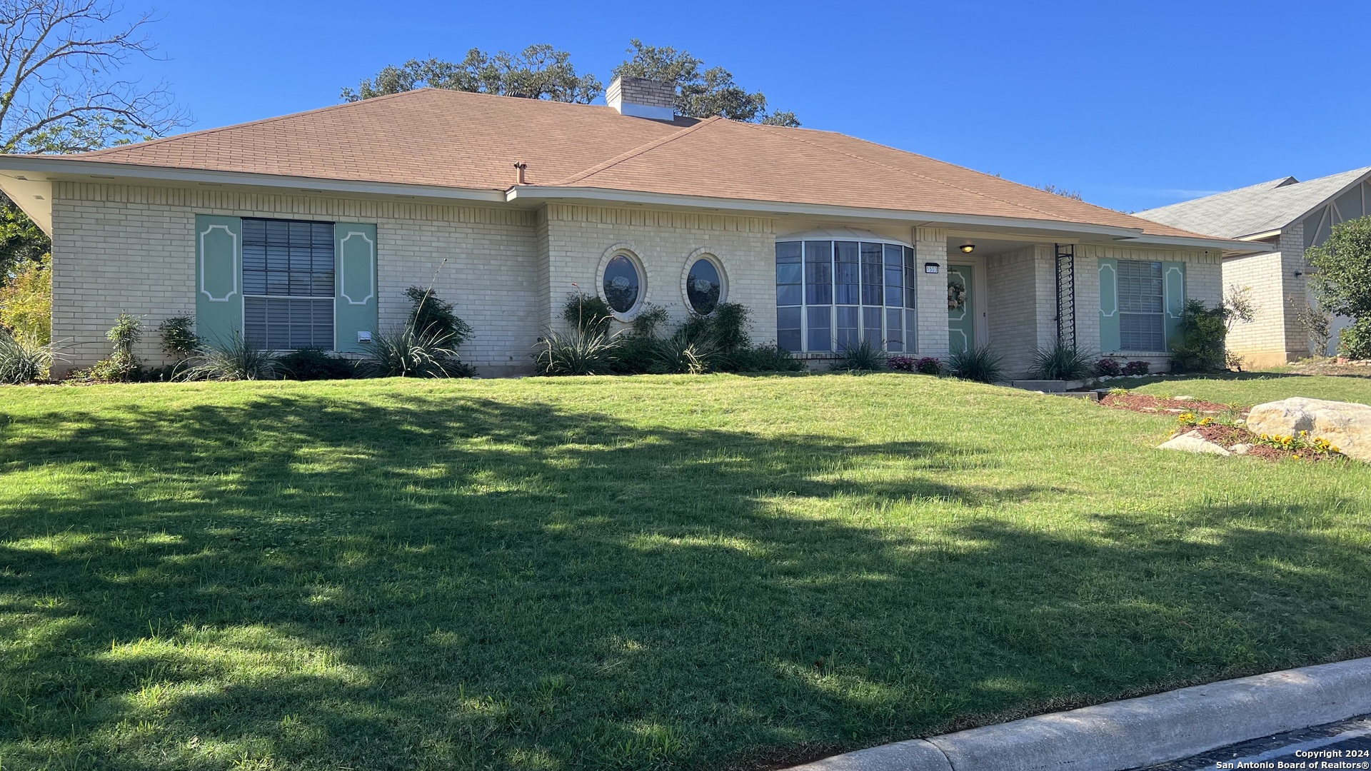
[[[359,102],[425,86],[580,104],[605,93],[595,75],[576,73],[570,54],[537,44],[520,54],[500,51],[494,56],[472,48],[465,59],[455,63],[410,59],[399,67],[388,64],[374,78],[358,84],[355,91],[344,88],[341,97],[344,102]]]

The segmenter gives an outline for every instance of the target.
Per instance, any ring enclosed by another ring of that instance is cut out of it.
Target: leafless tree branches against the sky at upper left
[[[118,80],[152,56],[149,15],[112,0],[0,0],[0,152],[82,152],[186,125],[165,84]]]

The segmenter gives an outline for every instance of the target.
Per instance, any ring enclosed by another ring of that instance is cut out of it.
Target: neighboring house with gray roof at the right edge
[[[1228,333],[1228,350],[1250,366],[1270,366],[1333,355],[1338,331],[1348,320],[1333,320],[1324,350],[1311,339],[1307,318],[1316,307],[1309,292],[1309,263],[1304,250],[1328,240],[1338,222],[1371,214],[1371,167],[1301,182],[1282,177],[1235,191],[1139,211],[1138,217],[1275,248],[1257,254],[1230,254],[1223,261],[1224,287],[1250,287],[1256,314]]]

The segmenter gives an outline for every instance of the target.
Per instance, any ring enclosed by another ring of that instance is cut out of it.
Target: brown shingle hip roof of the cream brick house
[[[526,182],[1186,230],[834,132],[420,89],[71,158],[322,180]]]

